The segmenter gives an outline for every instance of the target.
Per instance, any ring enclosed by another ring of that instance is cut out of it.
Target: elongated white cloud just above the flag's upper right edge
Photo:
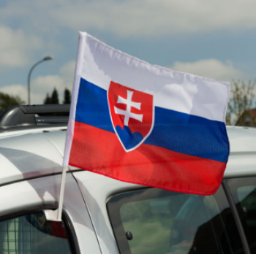
[[[170,69],[228,82],[231,80],[245,79],[249,76],[248,73],[236,69],[232,62],[227,61],[226,63],[222,63],[214,58],[187,63],[176,61],[173,63],[173,66],[170,66]]]

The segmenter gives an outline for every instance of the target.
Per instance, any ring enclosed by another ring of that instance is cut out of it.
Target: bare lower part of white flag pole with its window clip
[[[68,166],[63,166],[61,175],[61,188],[59,193],[59,207],[56,210],[45,210],[45,217],[47,220],[61,221],[67,169]]]

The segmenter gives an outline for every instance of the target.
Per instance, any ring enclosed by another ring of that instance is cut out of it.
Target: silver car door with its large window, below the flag
[[[214,196],[198,196],[91,172],[74,176],[89,206],[102,253],[244,253],[222,185]]]

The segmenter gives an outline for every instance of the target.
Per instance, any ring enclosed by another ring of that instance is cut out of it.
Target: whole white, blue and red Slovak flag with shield
[[[80,33],[64,166],[210,195],[229,142],[229,83],[154,66]]]

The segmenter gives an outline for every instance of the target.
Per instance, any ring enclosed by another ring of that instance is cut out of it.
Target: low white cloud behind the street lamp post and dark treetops
[[[72,80],[75,74],[75,61],[69,61],[59,70],[59,75],[39,76],[31,81],[31,104],[42,104],[46,93],[51,94],[53,88],[59,92],[59,101],[63,101],[65,88],[72,91]],[[20,96],[23,101],[28,101],[28,88],[26,85],[6,85],[0,88],[1,92],[12,96]]]

